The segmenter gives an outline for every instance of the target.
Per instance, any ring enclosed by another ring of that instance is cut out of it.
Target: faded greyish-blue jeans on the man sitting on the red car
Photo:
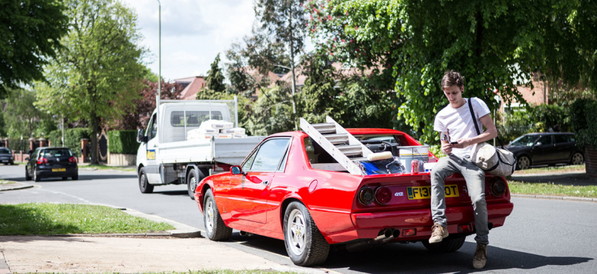
[[[468,159],[456,155],[440,158],[431,171],[431,214],[434,223],[446,226],[445,216],[445,178],[460,173],[467,182],[469,197],[475,210],[475,240],[484,245],[489,244],[489,228],[487,227],[487,203],[485,203],[485,171]]]

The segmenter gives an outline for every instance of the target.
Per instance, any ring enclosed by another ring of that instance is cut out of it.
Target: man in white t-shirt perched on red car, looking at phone
[[[441,134],[441,151],[449,157],[440,158],[431,171],[431,211],[434,225],[430,243],[441,242],[448,236],[445,216],[445,178],[461,173],[467,182],[467,190],[475,212],[477,249],[473,267],[482,269],[487,262],[489,228],[487,227],[487,203],[485,203],[485,172],[471,162],[474,145],[498,136],[487,104],[478,98],[463,98],[464,78],[456,71],[447,71],[441,80],[441,88],[449,101],[435,116],[434,130]],[[467,100],[471,100],[475,117]],[[480,118],[478,118],[480,117]],[[482,123],[487,129],[477,135],[475,125]]]

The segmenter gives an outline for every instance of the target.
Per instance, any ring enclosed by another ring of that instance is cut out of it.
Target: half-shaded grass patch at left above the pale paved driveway
[[[167,223],[131,216],[107,206],[67,203],[0,204],[0,235],[153,233]]]

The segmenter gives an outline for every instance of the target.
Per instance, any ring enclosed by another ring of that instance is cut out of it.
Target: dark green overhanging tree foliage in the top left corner
[[[0,0],[0,99],[6,87],[43,79],[43,65],[67,33],[65,6],[56,0]]]

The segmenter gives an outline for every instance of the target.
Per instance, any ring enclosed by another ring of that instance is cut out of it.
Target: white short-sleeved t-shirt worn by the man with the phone
[[[477,130],[471,117],[471,111],[469,110],[469,99],[465,98],[466,103],[460,108],[452,108],[451,105],[447,105],[443,110],[440,110],[435,116],[435,123],[433,129],[436,132],[447,132],[450,140],[456,142],[460,138],[473,138],[476,137]],[[473,105],[473,112],[475,112],[475,119],[479,126],[479,131],[483,133],[483,124],[479,120],[482,116],[490,113],[487,104],[477,97],[471,98]],[[470,145],[463,149],[452,149],[452,153],[460,158],[471,155],[474,145]]]

